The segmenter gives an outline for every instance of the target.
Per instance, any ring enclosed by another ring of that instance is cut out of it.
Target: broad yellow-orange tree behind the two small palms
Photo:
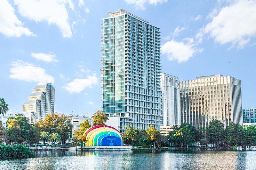
[[[71,136],[73,128],[71,117],[55,113],[47,115],[43,121],[36,123],[36,126],[40,131],[58,133],[61,137],[61,144]]]

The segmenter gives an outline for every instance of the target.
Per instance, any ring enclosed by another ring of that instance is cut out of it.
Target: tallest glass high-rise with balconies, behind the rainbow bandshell
[[[159,28],[123,9],[102,23],[103,111],[119,131],[132,124],[160,130],[161,47]]]

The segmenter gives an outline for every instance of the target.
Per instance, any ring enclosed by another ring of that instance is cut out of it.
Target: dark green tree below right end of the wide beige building
[[[240,124],[235,124],[230,122],[226,128],[226,139],[227,143],[230,145],[236,145],[242,143],[243,138],[243,128]]]

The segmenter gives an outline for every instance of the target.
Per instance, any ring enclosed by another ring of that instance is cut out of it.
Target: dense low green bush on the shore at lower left
[[[23,159],[35,157],[33,151],[25,145],[0,144],[0,159]]]

